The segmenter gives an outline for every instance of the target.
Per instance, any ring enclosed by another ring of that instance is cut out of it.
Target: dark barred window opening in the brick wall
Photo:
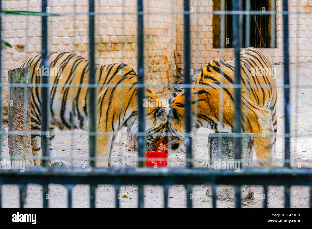
[[[250,11],[270,11],[271,0],[250,1]],[[213,10],[221,10],[221,0],[213,1]],[[225,0],[225,10],[232,10],[232,0]],[[242,10],[246,10],[246,1],[242,0]],[[273,9],[274,10],[274,9]],[[273,17],[275,20],[275,16]],[[271,15],[269,14],[254,14],[250,15],[250,43],[248,46],[256,48],[270,48],[271,47]],[[276,21],[276,20],[275,20]],[[232,15],[225,15],[224,40],[221,41],[221,15],[213,15],[212,19],[212,33],[213,33],[213,48],[220,48],[221,42],[224,42],[225,48],[233,47],[233,26]],[[276,25],[276,23],[275,23]],[[246,16],[242,17],[241,29],[241,47],[246,47]],[[274,38],[273,38],[274,39]],[[276,45],[276,42],[275,42]]]

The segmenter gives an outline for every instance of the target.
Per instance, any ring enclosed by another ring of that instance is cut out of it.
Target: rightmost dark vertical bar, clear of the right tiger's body
[[[283,48],[284,48],[284,116],[285,116],[285,167],[290,167],[290,84],[289,84],[289,37],[288,1],[283,0]]]

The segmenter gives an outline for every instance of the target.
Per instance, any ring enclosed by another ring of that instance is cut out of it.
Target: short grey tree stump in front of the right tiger
[[[219,142],[221,143],[219,145]],[[235,147],[234,147],[234,134],[227,133],[214,133],[208,135],[208,166],[214,169],[236,169],[238,163],[235,161]],[[253,162],[253,149],[254,134],[242,133],[241,138],[241,161],[243,166],[251,165]],[[220,149],[219,149],[220,146]],[[234,163],[233,163],[234,162]],[[236,164],[235,164],[236,163]],[[241,164],[240,164],[241,165]],[[234,167],[234,168],[233,168]],[[239,167],[239,165],[238,165]],[[239,170],[237,168],[237,170]],[[231,185],[218,185],[216,188],[217,199],[225,201],[234,201],[234,187]],[[212,187],[210,186],[206,192],[208,197],[212,195]],[[244,204],[248,199],[253,199],[254,193],[251,191],[251,186],[241,186],[241,201]]]

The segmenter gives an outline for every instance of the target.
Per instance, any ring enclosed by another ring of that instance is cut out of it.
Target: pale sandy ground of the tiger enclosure
[[[277,84],[283,83],[283,65],[275,65],[277,72]],[[312,137],[311,137],[311,111],[312,111],[312,90],[306,86],[312,82],[310,74],[312,63],[291,64],[290,81],[291,89],[291,162],[292,166],[312,167]],[[295,88],[298,83],[301,87]],[[284,160],[284,97],[283,88],[278,88],[277,118],[278,118],[278,138],[276,153],[278,160],[283,163]],[[7,124],[7,123],[5,123]],[[196,167],[203,167],[207,161],[207,134],[213,133],[212,130],[200,128],[193,138],[193,155]],[[64,143],[68,142],[68,143]],[[113,162],[123,166],[137,165],[137,152],[128,150],[128,147],[120,142],[127,142],[126,129],[122,130],[122,136],[117,138]],[[84,131],[58,132],[55,141],[56,153],[59,159],[66,160],[69,166],[81,166],[83,163],[88,165],[88,135]],[[168,167],[185,166],[185,153],[183,146],[178,152],[169,154]],[[64,151],[59,151],[64,150]],[[2,155],[8,157],[8,146],[4,142]],[[301,164],[300,164],[301,163]],[[259,166],[256,163],[254,154],[254,163],[251,166]],[[212,198],[206,195],[208,186],[193,186],[193,206],[211,207]],[[254,199],[248,199],[243,207],[262,207],[262,187],[251,186],[254,193]],[[49,185],[50,207],[66,207],[67,191],[65,186],[58,184]],[[120,194],[127,194],[132,197],[121,198],[121,207],[136,207],[138,205],[138,188],[134,185],[122,186]],[[96,207],[114,207],[115,191],[111,185],[99,185],[96,190]],[[163,207],[163,188],[160,186],[146,185],[144,188],[144,206],[145,207]],[[2,206],[18,207],[19,192],[17,185],[2,185]],[[73,206],[89,207],[89,186],[76,185],[73,188]],[[185,207],[186,191],[182,185],[173,185],[169,189],[169,207]],[[309,188],[306,186],[291,187],[291,207],[308,207]],[[284,206],[284,187],[269,186],[268,206]],[[42,188],[40,185],[29,184],[27,187],[27,199],[25,207],[42,207]],[[217,207],[234,207],[230,199],[217,200]]]

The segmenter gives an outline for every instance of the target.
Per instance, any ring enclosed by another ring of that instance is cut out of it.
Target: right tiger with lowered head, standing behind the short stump
[[[227,85],[234,83],[234,67],[235,59],[212,60],[198,74],[191,88],[192,112],[197,117],[193,123],[194,131],[199,127],[206,127],[215,133],[234,132],[234,88],[227,88]],[[275,152],[277,90],[270,61],[260,50],[248,47],[240,52],[240,71],[243,85],[241,130],[255,134],[254,149],[260,165],[280,167]],[[220,83],[222,80],[223,83]],[[221,108],[222,120],[219,118],[220,90],[223,90],[222,104],[225,105]],[[179,150],[185,140],[184,97],[184,92],[181,92],[173,98],[169,107],[170,117],[166,129],[171,137],[167,139],[167,146],[173,151]]]

